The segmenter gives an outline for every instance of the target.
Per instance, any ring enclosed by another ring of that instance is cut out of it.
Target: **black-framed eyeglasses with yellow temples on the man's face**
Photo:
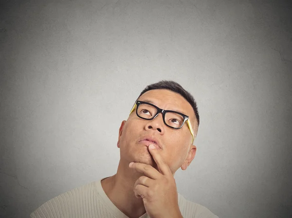
[[[194,141],[193,129],[187,115],[174,110],[160,109],[156,105],[144,101],[136,101],[130,111],[130,114],[134,111],[135,108],[137,116],[145,120],[153,120],[155,117],[158,116],[159,113],[162,113],[164,124],[170,128],[180,129],[186,122]]]

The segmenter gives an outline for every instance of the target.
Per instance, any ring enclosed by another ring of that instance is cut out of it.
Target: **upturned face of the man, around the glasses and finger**
[[[161,109],[174,110],[189,116],[196,135],[197,121],[194,110],[180,94],[168,90],[150,90],[138,100],[150,101]],[[120,147],[121,160],[127,163],[140,162],[157,168],[148,151],[150,142],[141,142],[145,137],[152,137],[158,142],[159,153],[173,174],[183,163],[188,165],[190,162],[185,163],[185,160],[192,160],[196,153],[196,147],[191,145],[192,135],[186,123],[180,129],[173,129],[164,124],[162,113],[153,120],[144,120],[137,116],[135,109],[120,127],[118,147]],[[189,152],[190,149],[193,149],[192,154]]]

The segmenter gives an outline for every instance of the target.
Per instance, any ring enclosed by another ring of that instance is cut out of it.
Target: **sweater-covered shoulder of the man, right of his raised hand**
[[[187,218],[218,218],[208,208],[201,204],[186,200],[181,194],[178,194],[179,207],[183,217]]]

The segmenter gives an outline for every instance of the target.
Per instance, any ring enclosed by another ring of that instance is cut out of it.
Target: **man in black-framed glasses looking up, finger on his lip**
[[[200,117],[173,81],[147,86],[119,129],[117,173],[55,197],[31,218],[218,218],[177,193],[175,172],[196,155]]]

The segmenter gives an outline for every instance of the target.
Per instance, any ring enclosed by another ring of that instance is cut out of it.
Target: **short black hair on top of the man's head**
[[[196,115],[196,119],[198,121],[198,127],[199,127],[200,116],[199,116],[199,111],[198,111],[198,107],[197,107],[197,102],[195,101],[195,98],[193,97],[193,95],[190,92],[184,90],[183,87],[180,84],[178,84],[177,82],[174,82],[172,80],[161,80],[157,83],[153,83],[151,85],[146,86],[146,88],[141,92],[139,97],[141,95],[143,95],[146,91],[157,90],[157,89],[170,90],[170,91],[173,91],[173,92],[176,92],[176,93],[179,93],[180,95],[182,95],[183,98],[185,98],[185,100],[187,100],[188,103],[190,103],[190,105],[194,109],[194,113]]]

